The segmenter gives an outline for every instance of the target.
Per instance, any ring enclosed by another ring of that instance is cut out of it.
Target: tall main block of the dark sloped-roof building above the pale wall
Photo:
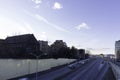
[[[13,57],[26,57],[39,53],[39,43],[33,34],[17,35],[5,39],[7,53]]]

